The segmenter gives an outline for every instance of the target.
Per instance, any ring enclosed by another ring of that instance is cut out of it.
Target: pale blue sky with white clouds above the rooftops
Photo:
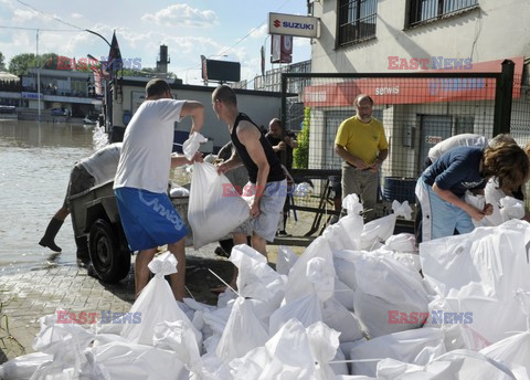
[[[212,59],[241,62],[242,80],[251,81],[261,73],[264,43],[266,70],[272,67],[268,12],[306,15],[306,0],[0,0],[0,52],[6,63],[13,55],[35,53],[36,32],[14,29],[29,28],[41,29],[39,53],[100,59],[108,55],[108,45],[80,29],[98,32],[108,41],[116,30],[123,57],[140,60],[146,67],[155,67],[159,45],[168,45],[169,71],[184,83],[201,82],[201,54],[226,54]],[[309,40],[295,38],[294,62],[309,59]]]

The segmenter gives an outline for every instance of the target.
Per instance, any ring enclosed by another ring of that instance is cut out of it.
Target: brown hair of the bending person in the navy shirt
[[[517,144],[499,144],[484,151],[483,175],[497,177],[499,188],[519,188],[528,179],[529,172],[528,156]]]

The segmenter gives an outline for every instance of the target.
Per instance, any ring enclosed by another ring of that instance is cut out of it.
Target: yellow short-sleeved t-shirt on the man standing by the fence
[[[343,146],[367,165],[373,163],[380,150],[389,149],[383,124],[373,117],[364,124],[357,115],[340,124],[335,144]]]

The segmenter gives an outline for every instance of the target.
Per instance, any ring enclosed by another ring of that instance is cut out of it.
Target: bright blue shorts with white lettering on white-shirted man
[[[115,189],[114,193],[131,251],[177,243],[188,233],[168,194],[134,188]]]

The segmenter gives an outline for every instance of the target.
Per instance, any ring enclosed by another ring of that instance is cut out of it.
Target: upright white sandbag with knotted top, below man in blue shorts
[[[177,258],[171,252],[165,252],[155,257],[149,264],[149,270],[155,277],[141,291],[140,296],[132,304],[130,314],[141,316],[137,324],[124,324],[120,335],[129,341],[140,345],[152,346],[155,327],[163,321],[182,320],[193,330],[198,342],[201,341],[199,332],[188,319],[187,315],[179,308],[173,292],[165,276],[177,273]]]

